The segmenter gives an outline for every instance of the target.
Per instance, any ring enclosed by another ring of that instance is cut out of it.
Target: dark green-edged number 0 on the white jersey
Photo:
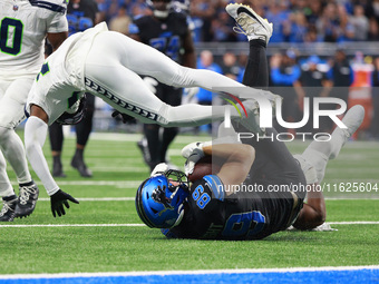
[[[3,18],[0,26],[0,50],[17,56],[21,51],[23,23],[17,19]]]

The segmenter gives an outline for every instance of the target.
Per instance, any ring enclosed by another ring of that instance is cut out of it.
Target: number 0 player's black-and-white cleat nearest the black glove
[[[39,189],[33,180],[19,185],[20,195],[14,209],[14,217],[22,218],[29,216],[36,208]]]

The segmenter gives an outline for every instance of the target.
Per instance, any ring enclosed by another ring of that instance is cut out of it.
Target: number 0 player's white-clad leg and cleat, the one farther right
[[[16,173],[20,190],[16,217],[30,215],[39,194],[29,173],[22,140],[14,131],[25,118],[23,108],[32,81],[31,78],[12,81],[0,101],[0,149]]]

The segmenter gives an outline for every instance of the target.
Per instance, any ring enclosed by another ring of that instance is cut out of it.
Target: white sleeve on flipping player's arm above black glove
[[[30,165],[41,179],[48,195],[51,196],[59,190],[59,187],[50,174],[42,151],[47,130],[48,126],[43,120],[31,116],[25,126],[25,146]]]

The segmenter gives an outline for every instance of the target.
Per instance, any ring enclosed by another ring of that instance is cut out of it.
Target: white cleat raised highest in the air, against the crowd
[[[235,32],[245,35],[249,40],[262,39],[266,45],[269,43],[273,31],[271,22],[245,4],[230,3],[225,9],[236,21],[236,27],[233,27]]]

